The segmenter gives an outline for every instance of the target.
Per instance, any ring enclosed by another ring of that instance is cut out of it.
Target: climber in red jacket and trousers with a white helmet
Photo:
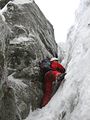
[[[52,97],[53,82],[58,77],[61,83],[65,76],[65,68],[58,62],[58,58],[51,58],[50,63],[51,70],[46,72],[44,76],[44,95],[41,101],[41,107],[44,107]],[[60,77],[61,75],[62,77]]]

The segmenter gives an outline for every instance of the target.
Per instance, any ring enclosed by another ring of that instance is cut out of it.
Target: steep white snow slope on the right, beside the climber
[[[65,83],[46,107],[25,120],[90,120],[90,0],[81,0],[67,46]]]

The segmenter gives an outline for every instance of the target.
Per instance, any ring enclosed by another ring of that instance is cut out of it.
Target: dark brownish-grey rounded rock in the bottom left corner
[[[4,95],[0,101],[0,120],[15,120],[16,103],[14,91],[10,87],[4,87],[3,93]]]

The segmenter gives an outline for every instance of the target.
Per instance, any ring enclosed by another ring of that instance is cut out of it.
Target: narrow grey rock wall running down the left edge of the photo
[[[0,119],[16,120],[17,107],[13,88],[8,84],[7,58],[10,30],[0,16]]]

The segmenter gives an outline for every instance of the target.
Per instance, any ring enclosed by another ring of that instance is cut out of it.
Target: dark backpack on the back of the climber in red
[[[40,72],[43,73],[43,75],[45,75],[46,72],[51,70],[50,67],[51,63],[49,59],[43,59],[40,63],[39,63],[39,67],[40,67]]]

